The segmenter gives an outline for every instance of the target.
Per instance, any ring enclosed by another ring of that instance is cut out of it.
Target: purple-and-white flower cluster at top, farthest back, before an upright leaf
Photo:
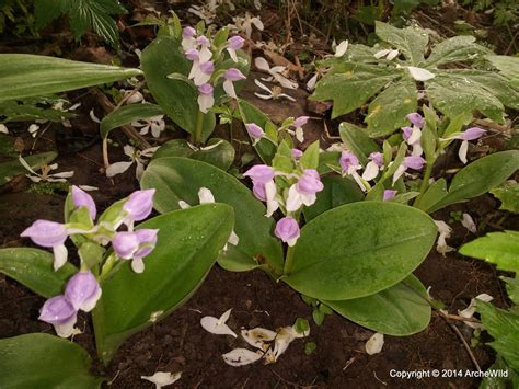
[[[220,77],[223,77],[223,90],[231,98],[237,98],[233,82],[246,77],[237,68],[229,68],[223,72],[215,71],[219,61],[223,59],[223,49],[234,62],[238,62],[237,50],[243,47],[245,39],[241,36],[230,37],[223,47],[215,47],[211,41],[197,34],[193,27],[185,27],[182,34],[184,55],[193,62],[188,79],[198,89],[198,107],[207,113],[215,105],[214,91]]]

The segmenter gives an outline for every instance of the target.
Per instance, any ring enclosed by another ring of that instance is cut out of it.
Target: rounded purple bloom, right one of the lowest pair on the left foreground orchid
[[[65,297],[73,309],[90,312],[101,297],[101,287],[91,272],[79,272],[67,283]]]

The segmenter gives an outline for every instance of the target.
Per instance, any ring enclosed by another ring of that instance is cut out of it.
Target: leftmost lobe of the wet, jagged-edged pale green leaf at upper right
[[[333,100],[332,118],[335,118],[360,107],[401,75],[376,66],[344,62],[322,78],[311,100]]]

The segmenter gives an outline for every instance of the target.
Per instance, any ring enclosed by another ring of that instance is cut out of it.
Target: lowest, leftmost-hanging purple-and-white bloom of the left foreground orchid
[[[59,336],[69,337],[73,332],[77,314],[72,304],[64,295],[59,295],[45,301],[38,319],[53,324]]]

